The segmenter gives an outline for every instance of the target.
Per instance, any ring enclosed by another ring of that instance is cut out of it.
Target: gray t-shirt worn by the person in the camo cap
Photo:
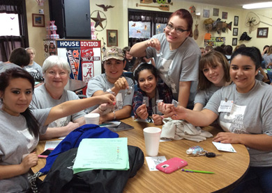
[[[120,110],[123,108],[123,106],[132,106],[133,104],[134,83],[131,78],[128,77],[125,78],[126,81],[128,82],[128,85],[133,87],[133,90],[130,95],[126,95],[126,90],[119,91],[119,93],[116,95],[116,105],[114,107],[114,110]],[[103,92],[106,92],[106,90],[112,87],[114,87],[114,84],[109,83],[109,81],[107,81],[106,74],[94,76],[88,83],[86,96],[92,97],[93,93],[95,93],[96,91],[103,90]],[[98,106],[93,106],[88,109],[88,112],[91,112],[96,108],[98,108]]]

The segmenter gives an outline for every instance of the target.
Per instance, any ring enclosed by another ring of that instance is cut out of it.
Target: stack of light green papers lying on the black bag
[[[93,169],[128,170],[128,138],[83,139],[77,149],[73,174]]]

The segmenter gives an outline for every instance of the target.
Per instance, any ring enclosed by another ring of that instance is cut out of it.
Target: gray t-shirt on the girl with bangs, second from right
[[[220,88],[221,87],[216,87],[212,84],[206,90],[197,91],[197,95],[195,95],[195,103],[201,103],[203,106],[206,106],[206,103],[208,103],[209,99],[211,99],[213,93],[215,93],[217,90],[220,90]]]

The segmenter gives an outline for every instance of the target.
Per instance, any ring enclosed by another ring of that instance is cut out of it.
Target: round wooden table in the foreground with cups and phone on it
[[[133,118],[121,120],[126,124],[134,126],[128,131],[118,132],[119,137],[128,137],[128,144],[138,146],[145,154],[143,128],[154,126],[153,124],[133,121]],[[162,128],[162,126],[158,126]],[[213,126],[203,128],[215,136],[222,130]],[[186,150],[190,146],[202,146],[206,151],[210,151],[221,156],[206,158],[206,156],[188,156]],[[192,142],[189,140],[173,140],[160,142],[158,156],[169,158],[182,158],[188,162],[188,166],[183,169],[195,169],[202,171],[213,171],[215,174],[201,174],[181,171],[174,171],[172,174],[165,174],[161,171],[149,171],[149,167],[144,160],[144,165],[136,176],[129,178],[123,192],[229,192],[236,183],[239,183],[248,169],[250,158],[248,150],[243,144],[232,144],[236,153],[218,151],[212,144],[212,137],[203,142]],[[40,141],[36,152],[44,150],[45,141]],[[39,159],[38,165],[32,167],[33,172],[39,171],[45,166],[45,159]],[[43,179],[44,176],[41,177]]]

